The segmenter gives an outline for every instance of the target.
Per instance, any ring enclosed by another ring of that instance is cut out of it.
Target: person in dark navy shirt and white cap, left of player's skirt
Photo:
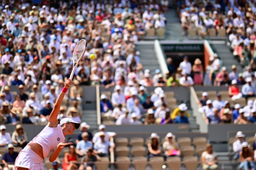
[[[8,144],[8,152],[6,152],[3,155],[2,159],[2,162],[5,164],[5,167],[8,167],[8,164],[13,165],[18,155],[19,154],[17,152],[14,152],[13,144]]]

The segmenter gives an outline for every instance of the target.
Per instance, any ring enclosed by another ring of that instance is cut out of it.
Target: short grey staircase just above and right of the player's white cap
[[[97,111],[96,110],[84,110],[82,114],[82,122],[86,122],[90,125],[90,131],[97,130]]]

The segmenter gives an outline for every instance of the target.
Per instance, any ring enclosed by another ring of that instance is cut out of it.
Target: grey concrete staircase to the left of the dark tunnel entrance
[[[154,41],[139,41],[135,48],[141,52],[140,63],[143,65],[143,70],[149,69],[151,76],[154,75],[155,70],[160,68],[154,50]]]

